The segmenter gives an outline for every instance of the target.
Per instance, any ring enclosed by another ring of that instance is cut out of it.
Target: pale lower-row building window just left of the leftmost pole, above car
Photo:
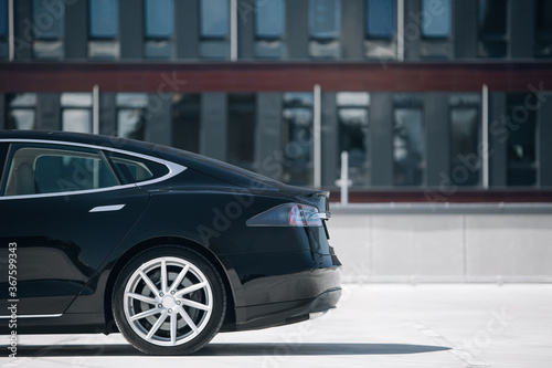
[[[92,94],[62,93],[62,129],[92,133]]]

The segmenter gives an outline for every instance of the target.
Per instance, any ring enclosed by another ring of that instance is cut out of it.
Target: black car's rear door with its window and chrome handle
[[[100,149],[13,143],[6,156],[0,317],[13,299],[19,316],[63,314],[77,294],[94,293],[88,280],[138,220],[149,194],[121,183]]]

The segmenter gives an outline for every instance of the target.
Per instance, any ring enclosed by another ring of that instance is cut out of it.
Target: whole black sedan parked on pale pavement
[[[341,295],[328,192],[68,133],[0,132],[0,334],[120,332],[190,354]]]

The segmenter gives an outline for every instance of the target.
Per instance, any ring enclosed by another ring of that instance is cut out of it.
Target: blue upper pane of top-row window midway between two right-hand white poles
[[[341,1],[309,0],[309,33],[312,39],[337,39],[341,33]]]

